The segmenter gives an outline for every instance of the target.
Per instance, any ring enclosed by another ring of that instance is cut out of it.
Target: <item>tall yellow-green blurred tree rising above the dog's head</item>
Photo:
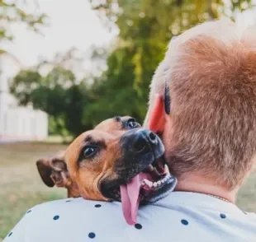
[[[133,114],[141,122],[145,117],[149,83],[172,36],[222,15],[235,18],[237,12],[253,6],[252,1],[239,0],[90,2],[107,27],[119,29],[116,49],[107,59],[108,70],[95,86],[99,100],[95,100],[91,109],[94,114],[97,109],[100,112],[99,117],[93,117],[93,123],[114,113]]]

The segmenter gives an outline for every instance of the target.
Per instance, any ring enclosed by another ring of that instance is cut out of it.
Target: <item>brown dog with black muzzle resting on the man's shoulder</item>
[[[153,202],[176,183],[164,164],[157,135],[135,119],[107,119],[77,137],[59,157],[36,162],[48,186],[68,188],[68,195],[122,202],[129,224],[140,202]]]

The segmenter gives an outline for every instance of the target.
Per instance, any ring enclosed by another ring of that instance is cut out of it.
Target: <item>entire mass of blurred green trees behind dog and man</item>
[[[64,67],[72,63],[72,53],[68,53],[56,58],[46,77],[26,70],[11,86],[22,105],[32,101],[50,114],[51,133],[77,135],[115,115],[129,114],[142,122],[149,83],[172,36],[221,15],[234,18],[236,12],[252,7],[252,1],[238,0],[90,2],[107,27],[120,30],[116,48],[107,57],[107,71],[101,77],[88,75],[78,81]],[[93,53],[106,56],[107,51],[96,49]]]

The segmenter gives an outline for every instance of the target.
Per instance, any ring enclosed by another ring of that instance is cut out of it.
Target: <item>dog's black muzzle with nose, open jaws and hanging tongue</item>
[[[121,137],[121,158],[115,161],[115,177],[102,180],[105,198],[121,201],[129,225],[136,223],[140,204],[152,203],[173,191],[177,179],[164,159],[164,144],[147,129],[127,132]]]

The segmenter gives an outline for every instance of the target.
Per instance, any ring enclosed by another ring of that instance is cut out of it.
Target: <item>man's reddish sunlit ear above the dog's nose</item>
[[[154,106],[149,115],[149,129],[154,133],[163,133],[165,125],[164,98],[157,94],[154,98]]]

